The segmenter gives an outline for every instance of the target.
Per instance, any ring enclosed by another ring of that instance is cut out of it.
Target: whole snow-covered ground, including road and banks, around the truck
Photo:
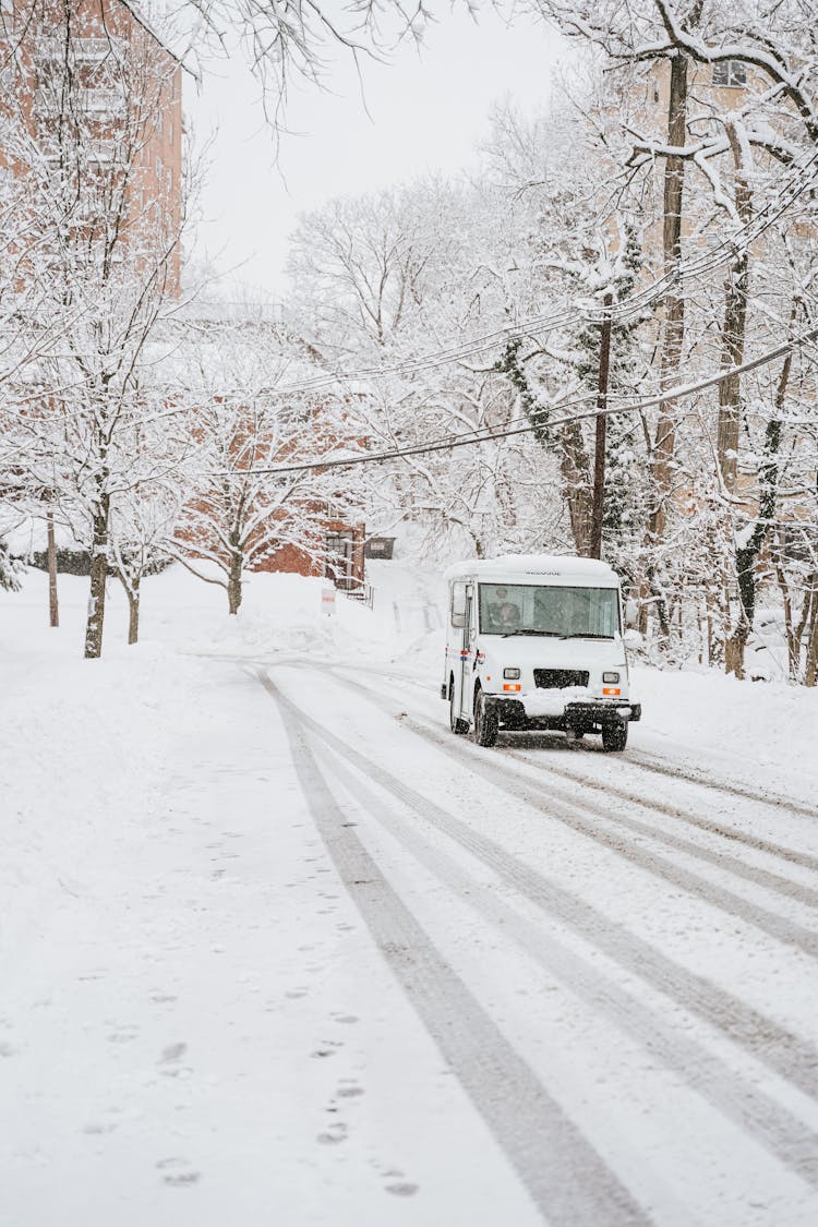
[[[813,1225],[818,696],[480,750],[374,582],[0,594],[0,1225]]]

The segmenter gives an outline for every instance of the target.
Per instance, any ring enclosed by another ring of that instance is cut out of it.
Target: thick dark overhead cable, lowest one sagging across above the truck
[[[714,388],[717,384],[724,383],[725,379],[731,379],[733,375],[743,375],[751,371],[758,369],[758,367],[769,366],[770,362],[775,362],[776,358],[792,353],[800,346],[816,340],[816,337],[818,337],[818,328],[811,329],[808,333],[802,333],[792,341],[778,345],[774,350],[768,350],[766,352],[759,355],[759,357],[751,358],[741,366],[728,367],[726,371],[720,371],[719,374],[715,375],[706,375],[704,379],[699,379],[694,384],[679,384],[676,388],[670,388],[667,391],[659,393],[656,396],[635,400],[630,405],[610,405],[603,410],[603,412],[606,416],[611,413],[633,413],[645,409],[654,409],[657,405],[665,405],[668,401],[683,400],[699,391],[705,391],[708,388]],[[552,406],[552,410],[575,409],[578,405],[584,405],[589,400],[596,400],[596,394],[560,401],[558,405]],[[434,452],[448,452],[454,450],[455,448],[475,447],[480,443],[492,443],[495,439],[506,439],[516,434],[531,434],[533,431],[541,429],[543,426],[551,428],[553,426],[564,426],[569,422],[581,422],[589,417],[597,417],[598,413],[600,410],[594,407],[583,410],[578,413],[565,413],[562,417],[548,417],[546,421],[536,425],[527,423],[525,426],[508,426],[499,431],[492,429],[491,427],[483,427],[470,432],[468,434],[450,434],[445,438],[432,439],[428,443],[421,443],[408,448],[391,448],[385,452],[369,452],[362,455],[345,456],[341,459],[318,458],[315,460],[302,461],[300,464],[271,465],[261,469],[217,470],[213,475],[229,476],[232,474],[238,474],[240,476],[254,476],[261,474],[309,472],[314,469],[351,469],[364,464],[383,464],[385,460],[400,460],[405,456],[428,455]]]

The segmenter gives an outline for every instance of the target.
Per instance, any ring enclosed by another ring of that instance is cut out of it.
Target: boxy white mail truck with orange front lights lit
[[[624,750],[641,707],[630,699],[619,579],[592,558],[510,555],[446,572],[440,697],[453,733],[492,746],[498,733],[601,733]]]

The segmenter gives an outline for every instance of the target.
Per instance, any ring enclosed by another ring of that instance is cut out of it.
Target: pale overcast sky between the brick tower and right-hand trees
[[[390,65],[364,64],[367,109],[350,64],[332,66],[331,92],[293,94],[287,118],[298,135],[283,136],[278,169],[258,86],[238,63],[211,65],[199,93],[188,83],[188,114],[199,144],[218,129],[196,256],[223,271],[220,297],[238,296],[239,282],[282,297],[299,212],[424,171],[456,172],[473,158],[491,104],[510,96],[536,109],[565,56],[542,23],[519,18],[509,28],[488,10],[476,25],[462,10],[446,12],[419,56],[407,45]]]

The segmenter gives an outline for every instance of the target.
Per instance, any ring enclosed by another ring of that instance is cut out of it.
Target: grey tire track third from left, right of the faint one
[[[768,1018],[705,975],[676,963],[623,924],[611,920],[587,899],[573,894],[552,879],[532,870],[500,844],[480,834],[468,823],[443,810],[391,772],[348,746],[330,729],[296,707],[291,699],[282,697],[281,701],[307,729],[342,758],[475,855],[530,903],[565,925],[584,941],[596,946],[627,972],[676,1001],[682,1009],[698,1015],[724,1032],[797,1090],[811,1098],[818,1098],[818,1048],[808,1040]],[[462,760],[460,761],[462,766]],[[475,766],[470,763],[472,771]],[[493,772],[477,773],[495,783]]]

